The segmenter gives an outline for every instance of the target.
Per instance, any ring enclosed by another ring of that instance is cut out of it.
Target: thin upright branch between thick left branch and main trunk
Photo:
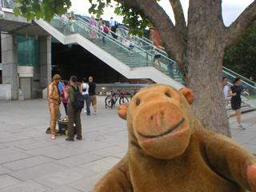
[[[187,40],[187,27],[180,0],[169,0],[171,7],[174,10],[175,26],[186,42]]]

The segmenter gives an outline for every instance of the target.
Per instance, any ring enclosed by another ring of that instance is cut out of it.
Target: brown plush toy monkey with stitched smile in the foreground
[[[204,130],[192,114],[193,98],[188,88],[155,84],[120,106],[129,150],[92,191],[256,191],[256,158],[234,140]]]

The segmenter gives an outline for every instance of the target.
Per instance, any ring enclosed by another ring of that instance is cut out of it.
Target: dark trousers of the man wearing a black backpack
[[[69,132],[69,138],[74,140],[74,124],[77,128],[78,138],[82,137],[82,125],[80,118],[81,110],[74,110],[72,105],[67,106],[67,115],[69,116],[67,122],[67,130]]]

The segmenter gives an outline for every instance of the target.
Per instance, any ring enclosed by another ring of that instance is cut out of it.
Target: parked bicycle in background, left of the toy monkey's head
[[[125,95],[129,95],[130,93],[122,93],[122,90],[117,90],[118,93],[113,92],[110,90],[111,95],[106,96],[105,98],[105,107],[111,107],[115,106],[115,103],[118,101],[119,98],[119,104],[122,105],[122,103],[129,102],[128,98],[125,97]]]

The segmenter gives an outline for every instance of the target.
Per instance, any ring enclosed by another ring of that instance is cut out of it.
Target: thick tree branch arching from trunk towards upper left
[[[146,14],[146,17],[150,19],[150,22],[157,27],[167,54],[174,58],[176,62],[182,62],[182,59],[184,58],[183,54],[186,54],[186,42],[183,40],[182,35],[179,34],[165,10],[163,10],[155,0],[115,1],[125,3],[129,6],[135,6]]]

